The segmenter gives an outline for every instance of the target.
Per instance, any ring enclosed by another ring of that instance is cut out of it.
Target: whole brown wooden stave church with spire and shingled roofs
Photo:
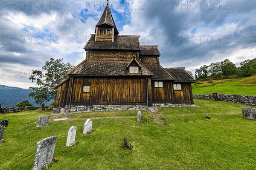
[[[185,68],[163,68],[158,46],[141,46],[140,36],[119,35],[107,4],[86,58],[56,85],[55,107],[70,105],[193,104]]]

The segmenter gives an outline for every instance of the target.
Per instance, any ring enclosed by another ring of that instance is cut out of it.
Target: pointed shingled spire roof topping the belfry
[[[104,12],[102,13],[102,16],[100,17],[99,19],[99,22],[96,24],[96,26],[102,26],[102,25],[109,25],[109,26],[113,26],[114,29],[115,29],[115,34],[118,35],[119,32],[116,28],[116,24],[113,20],[113,17],[112,17],[112,14],[111,14],[111,11],[109,9],[109,6],[107,4]]]

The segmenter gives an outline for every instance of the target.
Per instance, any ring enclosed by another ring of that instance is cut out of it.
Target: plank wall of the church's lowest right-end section
[[[191,102],[190,100],[190,83],[181,83],[181,90],[174,90],[175,92],[175,102]]]

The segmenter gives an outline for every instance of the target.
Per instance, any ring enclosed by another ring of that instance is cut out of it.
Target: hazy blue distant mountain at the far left
[[[14,107],[23,100],[28,100],[33,106],[39,106],[33,98],[29,98],[32,90],[11,87],[0,84],[0,104],[2,107]],[[45,103],[45,106],[51,104],[54,100]]]

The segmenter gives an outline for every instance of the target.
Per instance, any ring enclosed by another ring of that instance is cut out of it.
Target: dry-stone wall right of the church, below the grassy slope
[[[256,95],[225,95],[220,94],[220,98],[214,99],[212,94],[200,94],[193,95],[194,99],[204,99],[204,100],[215,100],[215,101],[227,101],[233,103],[248,104],[251,106],[256,105]]]

